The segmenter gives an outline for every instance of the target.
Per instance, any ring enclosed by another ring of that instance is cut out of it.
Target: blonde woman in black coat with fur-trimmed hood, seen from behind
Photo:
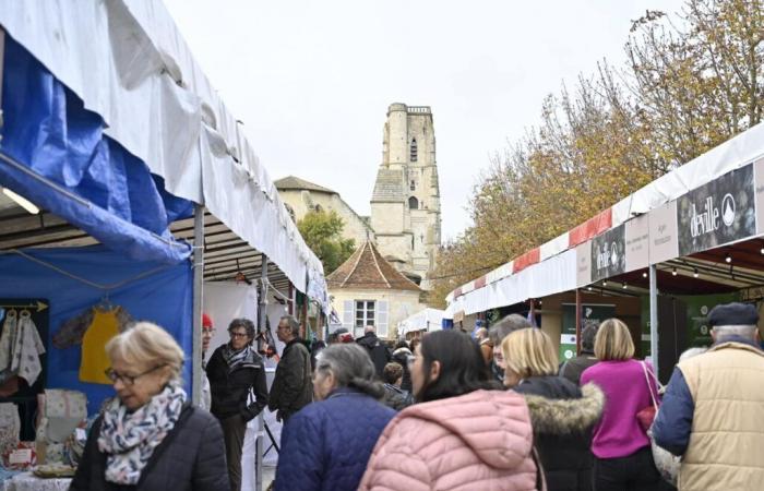
[[[504,384],[523,394],[549,491],[592,489],[592,429],[605,397],[594,384],[578,388],[557,375],[552,340],[538,328],[515,331],[501,344]]]

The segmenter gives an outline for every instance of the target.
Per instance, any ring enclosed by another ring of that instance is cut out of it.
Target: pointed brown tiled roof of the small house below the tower
[[[402,275],[371,242],[361,244],[353,255],[326,277],[330,289],[373,289],[421,291],[416,283]]]

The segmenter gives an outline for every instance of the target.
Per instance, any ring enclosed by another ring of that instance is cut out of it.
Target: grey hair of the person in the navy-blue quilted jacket
[[[356,344],[332,345],[321,350],[315,373],[331,372],[338,387],[354,387],[374,398],[384,395],[369,351]]]

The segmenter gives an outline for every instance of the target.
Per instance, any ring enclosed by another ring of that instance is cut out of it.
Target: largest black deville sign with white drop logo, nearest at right
[[[753,236],[756,231],[754,197],[752,164],[679,197],[680,255]]]

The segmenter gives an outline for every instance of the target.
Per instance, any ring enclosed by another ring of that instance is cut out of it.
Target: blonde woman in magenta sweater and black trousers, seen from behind
[[[595,427],[594,486],[596,491],[655,490],[664,486],[653,462],[650,442],[636,414],[652,406],[645,370],[634,360],[634,343],[629,327],[618,319],[599,325],[594,340],[599,362],[581,375],[581,383],[595,383],[605,393],[602,419]],[[654,393],[657,394],[657,391]]]

